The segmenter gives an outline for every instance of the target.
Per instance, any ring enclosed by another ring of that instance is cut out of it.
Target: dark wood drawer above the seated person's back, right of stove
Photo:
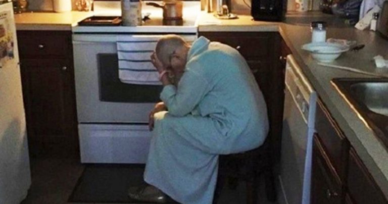
[[[238,49],[246,60],[265,59],[271,55],[274,45],[271,44],[270,32],[202,32],[211,41],[218,41]],[[267,59],[268,60],[268,59]]]

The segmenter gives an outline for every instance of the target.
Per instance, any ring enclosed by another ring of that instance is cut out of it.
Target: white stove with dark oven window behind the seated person
[[[145,163],[151,140],[148,115],[160,101],[161,86],[126,84],[119,79],[120,37],[147,39],[147,48],[126,50],[151,55],[163,34],[197,38],[200,2],[183,3],[183,20],[163,21],[162,9],[142,5],[150,13],[141,26],[122,26],[120,1],[94,2],[94,19],[108,25],[73,27],[74,76],[82,163]],[[103,20],[102,20],[103,19]],[[151,40],[152,39],[152,40]],[[137,42],[129,42],[137,43]],[[141,41],[143,43],[143,41]],[[151,61],[150,61],[151,62]]]

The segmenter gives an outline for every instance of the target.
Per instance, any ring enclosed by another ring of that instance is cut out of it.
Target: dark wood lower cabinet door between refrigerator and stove
[[[21,60],[21,74],[30,155],[77,155],[72,63]]]

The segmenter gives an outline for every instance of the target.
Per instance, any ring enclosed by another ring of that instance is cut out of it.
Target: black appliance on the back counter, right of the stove
[[[255,21],[282,21],[286,3],[285,0],[252,0],[251,15]]]

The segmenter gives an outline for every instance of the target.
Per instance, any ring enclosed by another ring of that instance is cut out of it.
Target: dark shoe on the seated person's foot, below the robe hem
[[[144,202],[153,202],[153,203],[166,203],[167,195],[159,190],[159,188],[146,185],[142,187],[130,187],[128,190],[128,196],[131,199],[144,201]]]

